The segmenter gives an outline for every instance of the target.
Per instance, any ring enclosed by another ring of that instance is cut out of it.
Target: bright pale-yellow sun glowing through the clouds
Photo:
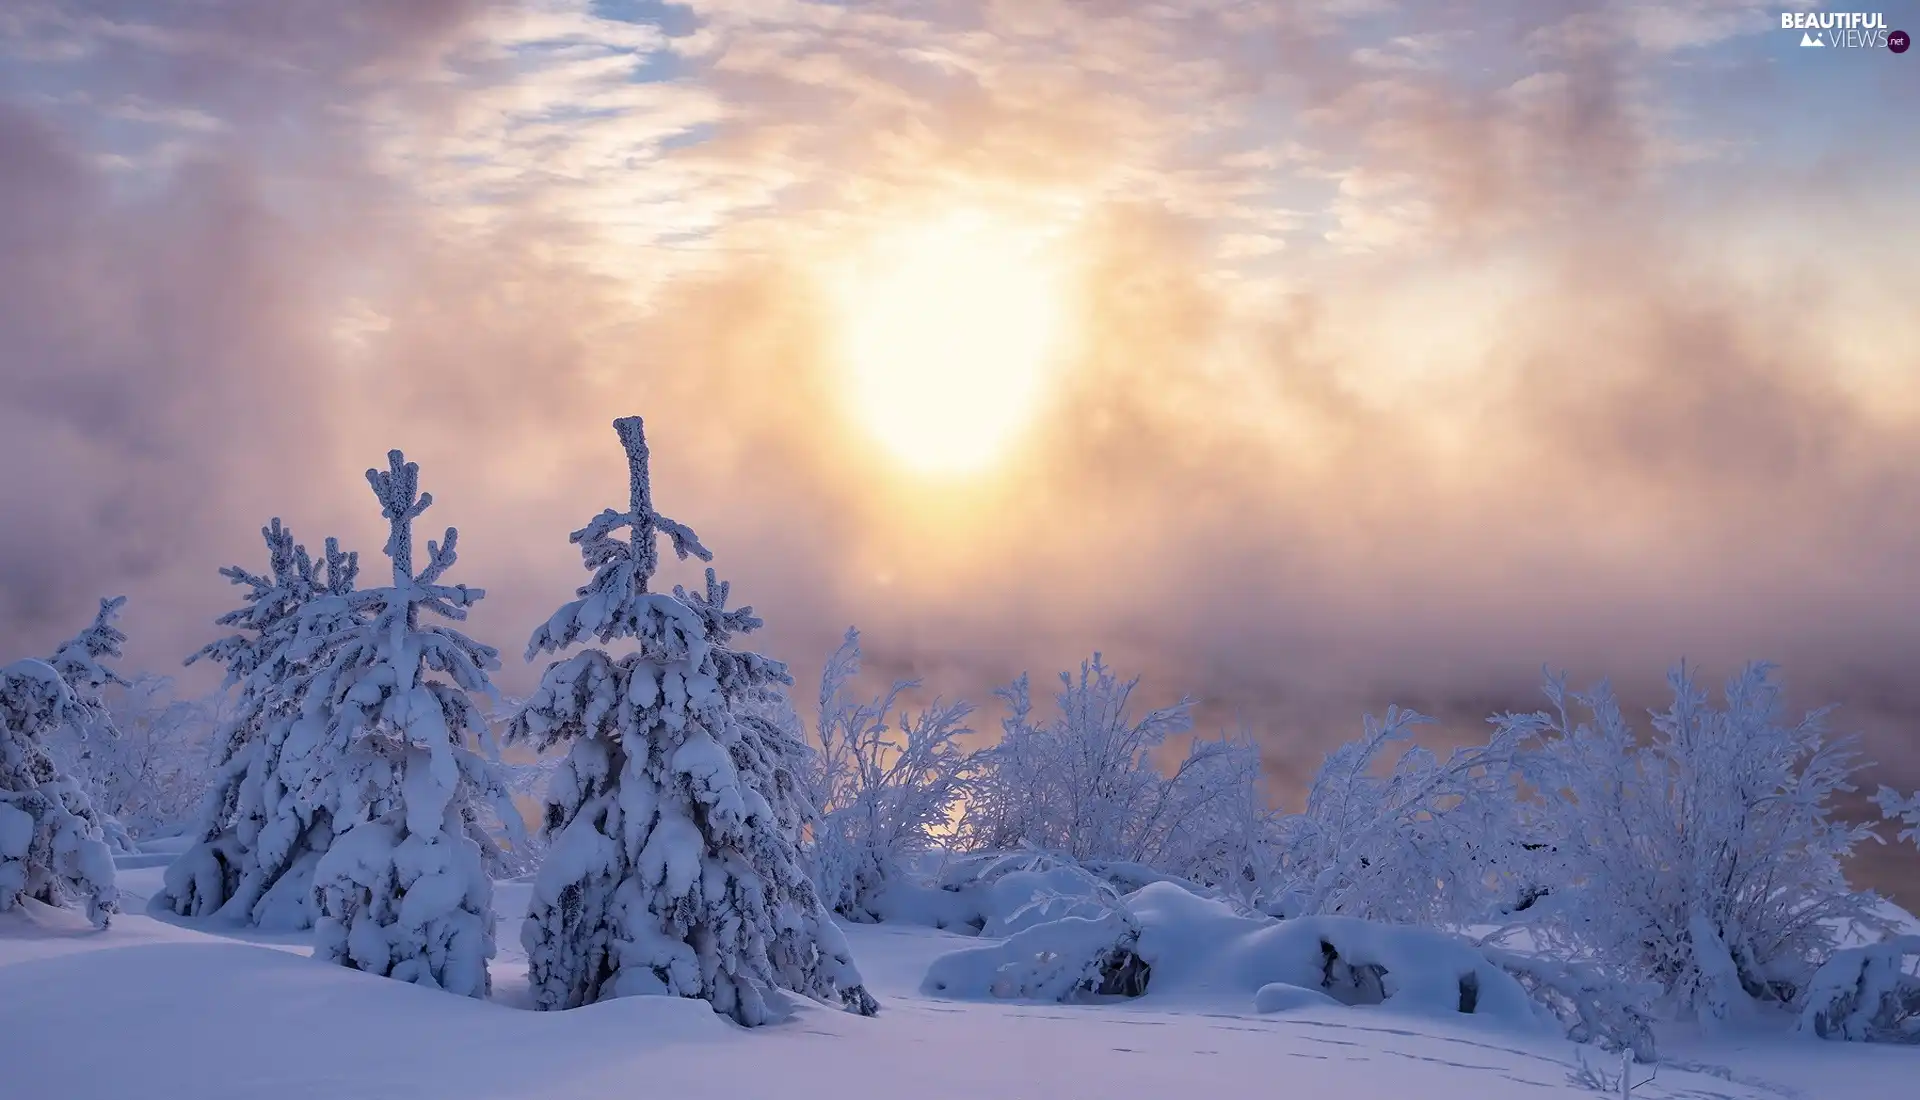
[[[874,240],[835,278],[835,311],[854,418],[922,474],[1004,455],[1039,415],[1068,328],[1050,234],[979,213]]]

